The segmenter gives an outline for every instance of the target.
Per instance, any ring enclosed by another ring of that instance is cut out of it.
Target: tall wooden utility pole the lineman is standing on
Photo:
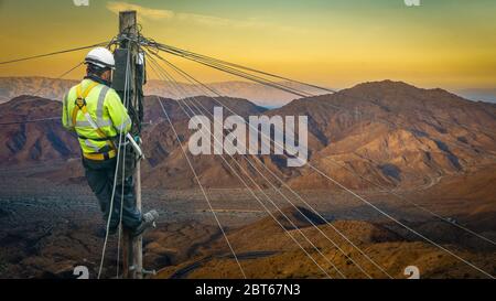
[[[119,12],[119,35],[129,37],[130,40],[134,40],[138,37],[138,28],[137,28],[137,12],[136,11],[122,11]],[[140,101],[142,100],[141,92],[142,92],[142,74],[139,76],[140,71],[138,65],[140,61],[139,46],[136,42],[131,42],[130,40],[123,40],[120,44],[121,50],[126,50],[123,53],[129,55],[129,61],[126,60],[126,65],[130,63],[129,66],[123,66],[125,68],[129,68],[130,78],[127,85],[127,89],[129,93],[129,101],[128,101],[128,111],[133,112],[131,117],[133,119],[133,125],[131,132],[133,135],[140,133],[140,122],[141,117],[140,110]],[[129,53],[128,53],[129,52]],[[122,68],[122,65],[120,66]],[[116,73],[119,71],[116,69]],[[122,69],[120,71],[122,74]],[[126,74],[126,72],[123,72]],[[140,79],[141,78],[141,79]],[[122,79],[122,78],[121,78]],[[122,83],[122,82],[121,82]],[[120,85],[122,87],[122,84]],[[125,92],[125,89],[121,89]],[[119,90],[118,90],[119,93]],[[125,92],[126,93],[126,92]],[[121,96],[122,97],[122,96]],[[123,97],[122,97],[123,99]],[[134,155],[132,151],[128,152],[128,155]],[[131,157],[131,161],[134,157]],[[129,159],[125,159],[123,161],[128,161]],[[129,171],[129,169],[127,169]],[[136,160],[134,162],[134,174],[133,174],[133,183],[134,183],[134,194],[136,194],[136,206],[141,212],[141,176],[140,176],[140,160]],[[122,232],[122,276],[123,278],[131,279],[141,279],[143,277],[143,261],[142,261],[142,237],[132,238],[127,229]]]

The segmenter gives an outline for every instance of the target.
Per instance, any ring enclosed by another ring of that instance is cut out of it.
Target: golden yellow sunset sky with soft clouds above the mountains
[[[494,0],[0,0],[0,61],[108,41],[126,9],[162,43],[333,88],[385,78],[496,86]],[[84,55],[1,65],[0,76],[57,77]],[[205,82],[235,79],[173,61]]]

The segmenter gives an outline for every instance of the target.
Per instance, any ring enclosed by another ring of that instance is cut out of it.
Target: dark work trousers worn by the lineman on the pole
[[[94,161],[83,158],[83,165],[89,187],[95,193],[104,213],[105,223],[110,213],[114,178],[116,174],[117,158],[105,161]],[[119,164],[121,165],[121,164]],[[122,198],[123,195],[123,198]],[[132,176],[127,176],[123,184],[122,178],[117,176],[116,192],[114,195],[114,209],[110,216],[110,230],[117,229],[120,219],[120,204],[122,202],[122,225],[128,229],[136,229],[141,224],[141,214],[136,207],[134,185]],[[107,224],[106,224],[107,226]]]

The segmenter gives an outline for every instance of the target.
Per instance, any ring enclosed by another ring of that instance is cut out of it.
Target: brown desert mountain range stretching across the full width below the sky
[[[180,104],[162,98],[182,139],[182,146],[164,120],[158,97],[145,98],[143,140],[144,185],[160,187],[195,186],[182,154],[192,131]],[[211,112],[219,106],[208,97],[197,97]],[[496,105],[474,103],[442,89],[421,89],[401,82],[375,82],[357,85],[333,95],[301,98],[278,109],[267,110],[240,98],[216,99],[240,116],[306,115],[309,117],[309,161],[332,174],[348,187],[370,187],[364,175],[386,186],[430,186],[442,176],[461,174],[496,162]],[[193,105],[192,99],[181,104]],[[0,105],[0,120],[21,121],[58,116],[61,104],[21,96]],[[197,110],[196,110],[197,112]],[[56,120],[2,126],[0,162],[28,164],[79,155],[74,137]],[[285,166],[279,155],[248,158],[265,170],[299,189],[330,189],[333,184],[313,170]],[[242,157],[236,155],[258,183],[263,179]],[[233,172],[216,155],[197,155],[193,163],[206,186],[239,186]],[[82,176],[79,162],[73,162],[72,175]],[[71,168],[71,164],[68,164]],[[239,170],[239,169],[238,169]],[[51,174],[54,181],[67,174]],[[277,181],[270,178],[273,183]]]

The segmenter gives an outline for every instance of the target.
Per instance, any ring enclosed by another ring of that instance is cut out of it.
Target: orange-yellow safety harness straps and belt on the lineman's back
[[[91,92],[93,88],[95,88],[96,86],[98,86],[98,83],[91,82],[89,84],[89,86],[82,92],[82,87],[80,84],[76,86],[76,94],[77,94],[77,98],[75,100],[75,106],[73,109],[73,125],[76,125],[76,119],[77,119],[77,114],[79,111],[83,112],[83,115],[85,116],[86,120],[88,121],[88,123],[91,126],[91,128],[95,130],[95,132],[100,137],[100,138],[86,138],[83,136],[78,135],[79,139],[90,139],[90,140],[95,140],[95,141],[106,141],[107,146],[101,148],[98,152],[91,152],[91,153],[87,153],[83,151],[83,155],[86,159],[89,160],[97,160],[97,161],[104,161],[104,160],[108,160],[110,158],[116,157],[117,154],[117,149],[116,146],[112,142],[112,139],[107,137],[107,135],[105,135],[104,131],[101,131],[101,129],[98,127],[98,123],[95,122],[95,120],[93,120],[91,116],[88,112],[88,109],[86,108],[86,97],[88,96],[88,94]]]

